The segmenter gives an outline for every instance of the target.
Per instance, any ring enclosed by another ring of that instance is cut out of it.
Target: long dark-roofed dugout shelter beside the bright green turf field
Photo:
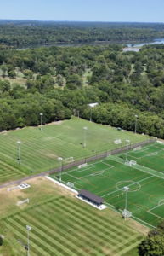
[[[93,205],[96,205],[97,207],[101,207],[105,201],[103,198],[98,195],[94,195],[85,189],[80,190],[77,196],[81,197],[83,200],[93,203]]]

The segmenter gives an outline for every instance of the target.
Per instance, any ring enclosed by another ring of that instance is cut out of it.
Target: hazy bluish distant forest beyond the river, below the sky
[[[0,20],[0,46],[126,42],[164,37],[162,23]]]

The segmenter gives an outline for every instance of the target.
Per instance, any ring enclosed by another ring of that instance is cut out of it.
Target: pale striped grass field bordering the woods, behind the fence
[[[86,144],[84,143],[84,129],[87,127]],[[122,139],[122,146],[126,145],[126,139],[131,143],[139,143],[146,140],[147,136],[134,134],[133,132],[117,131],[107,125],[97,125],[83,119],[71,119],[57,122],[53,125],[40,127],[25,127],[24,129],[8,131],[0,134],[0,154],[13,161],[18,166],[18,144],[20,145],[21,166],[24,166],[35,174],[48,171],[59,166],[58,157],[64,159],[73,157],[81,160],[96,154],[105,153],[111,148],[120,147],[114,144],[114,140]],[[2,167],[0,166],[0,176]]]

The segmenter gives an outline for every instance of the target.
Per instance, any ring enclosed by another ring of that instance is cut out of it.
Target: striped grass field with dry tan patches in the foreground
[[[26,224],[31,226],[31,256],[138,255],[137,246],[147,232],[141,225],[131,220],[125,222],[108,208],[99,211],[44,177],[29,183],[30,189],[17,189],[9,194],[4,189],[1,191],[0,233],[5,238],[0,253],[3,256],[26,255],[17,241],[27,244]],[[29,205],[16,206],[16,201],[27,197]]]

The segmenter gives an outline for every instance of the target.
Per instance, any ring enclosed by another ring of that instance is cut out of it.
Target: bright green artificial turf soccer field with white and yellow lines
[[[127,158],[127,164],[126,163]],[[133,165],[130,165],[133,160]],[[151,143],[128,154],[110,155],[103,160],[72,168],[62,173],[62,182],[74,183],[75,189],[86,189],[105,199],[106,206],[125,208],[132,218],[150,228],[164,218],[164,144]],[[56,178],[59,174],[53,174]]]

